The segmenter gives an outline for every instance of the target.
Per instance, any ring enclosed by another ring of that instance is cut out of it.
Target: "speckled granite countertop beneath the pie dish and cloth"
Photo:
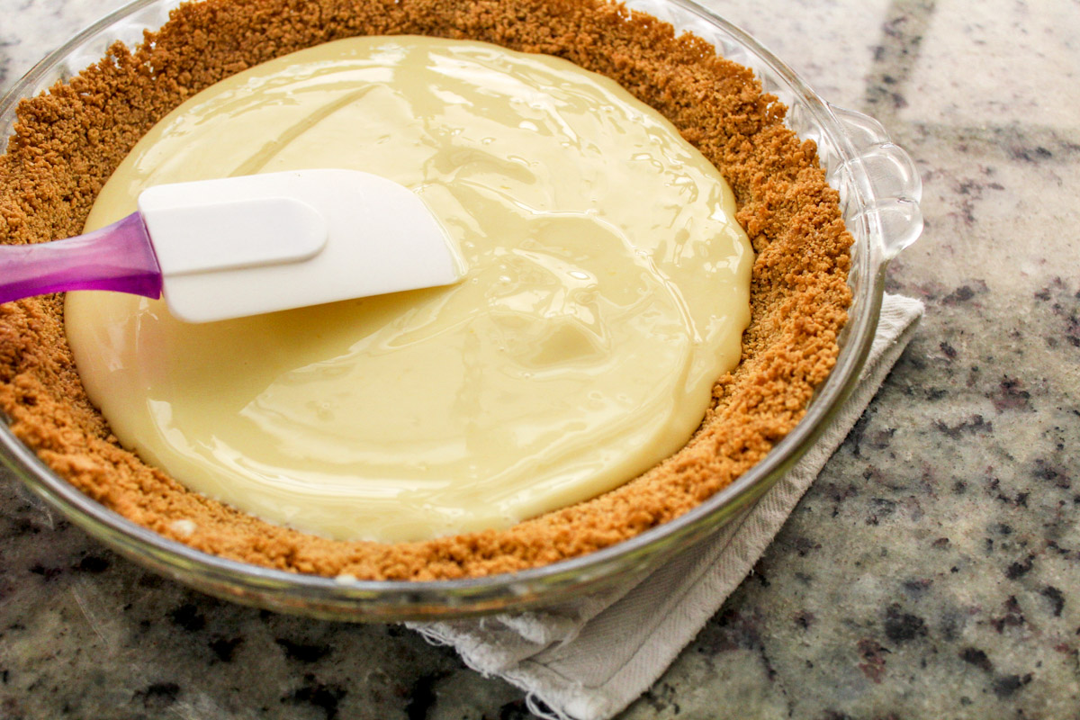
[[[117,0],[0,0],[0,90]],[[712,0],[922,174],[927,316],[638,718],[1080,717],[1075,0]],[[808,42],[807,39],[812,39]],[[0,471],[0,717],[528,716],[397,626],[212,599]]]

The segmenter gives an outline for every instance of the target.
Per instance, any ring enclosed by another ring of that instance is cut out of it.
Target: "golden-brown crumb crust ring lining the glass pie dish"
[[[138,138],[190,95],[247,67],[355,35],[430,35],[548,53],[606,74],[671,120],[724,173],[757,259],[743,361],[680,451],[594,500],[509,530],[379,544],[258,520],[121,448],[86,399],[63,298],[0,305],[0,410],[60,476],[124,517],[207,553],[295,572],[434,580],[580,556],[671,520],[761,460],[802,417],[836,361],[851,237],[812,142],[753,73],[707,43],[599,0],[206,0],[137,47],[24,100],[0,157],[0,242],[78,234]]]

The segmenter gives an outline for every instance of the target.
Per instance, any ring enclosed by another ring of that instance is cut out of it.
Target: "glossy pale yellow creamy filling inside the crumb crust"
[[[69,294],[91,398],[193,490],[342,540],[503,528],[677,450],[739,361],[753,256],[717,171],[612,81],[484,43],[341,40],[218,83],[86,228],[151,185],[308,167],[415,190],[469,274],[208,325]]]

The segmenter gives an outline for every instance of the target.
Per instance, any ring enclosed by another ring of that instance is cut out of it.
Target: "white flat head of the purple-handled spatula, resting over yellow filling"
[[[161,185],[138,208],[168,310],[193,323],[447,285],[464,271],[423,202],[368,173]]]

